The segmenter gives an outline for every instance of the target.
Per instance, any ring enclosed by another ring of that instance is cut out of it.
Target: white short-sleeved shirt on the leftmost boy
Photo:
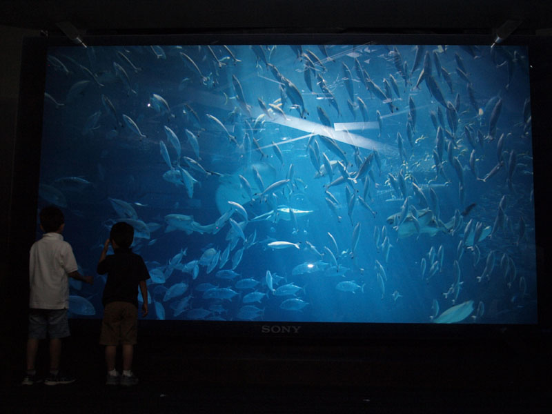
[[[68,273],[78,270],[68,242],[59,233],[46,233],[30,248],[29,307],[66,309],[69,307]]]

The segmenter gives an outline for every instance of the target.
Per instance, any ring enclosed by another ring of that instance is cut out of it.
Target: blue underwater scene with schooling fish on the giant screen
[[[102,316],[95,270],[125,221],[148,319],[538,322],[525,47],[51,47],[46,64],[38,207],[61,207],[95,275],[70,280],[70,316]]]

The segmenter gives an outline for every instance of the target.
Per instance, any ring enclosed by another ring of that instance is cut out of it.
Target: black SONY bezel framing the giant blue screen
[[[174,45],[174,44],[473,44],[489,45],[490,36],[471,35],[427,35],[427,34],[301,34],[301,33],[248,33],[248,34],[184,34],[170,36],[93,36],[83,37],[88,46],[115,45]],[[531,110],[534,187],[535,187],[535,242],[537,246],[538,268],[538,323],[523,325],[504,324],[385,324],[385,323],[335,323],[335,322],[211,322],[211,321],[141,321],[148,331],[160,335],[184,335],[194,337],[301,337],[310,339],[346,338],[366,339],[373,337],[393,338],[444,338],[486,337],[501,331],[510,330],[523,334],[549,331],[550,311],[547,305],[550,298],[549,280],[544,275],[546,269],[546,238],[549,224],[543,223],[546,215],[546,181],[549,169],[546,168],[546,154],[551,144],[546,139],[551,120],[551,103],[546,90],[551,81],[547,76],[550,66],[550,39],[540,37],[511,37],[504,45],[522,45],[529,48],[531,64]],[[76,46],[64,37],[28,38],[23,44],[21,62],[21,83],[17,138],[14,154],[14,174],[12,178],[12,204],[10,210],[10,246],[30,246],[36,235],[36,212],[38,204],[38,182],[40,144],[43,114],[43,92],[46,80],[46,55],[50,46]],[[35,189],[33,190],[29,189]],[[539,227],[538,230],[536,227]],[[12,268],[21,269],[28,264],[28,249],[15,248],[10,254]],[[540,278],[539,278],[540,276]],[[21,286],[23,286],[21,280]],[[19,288],[21,288],[19,286]],[[96,326],[97,320],[77,318],[82,326]],[[284,326],[301,326],[299,331]]]

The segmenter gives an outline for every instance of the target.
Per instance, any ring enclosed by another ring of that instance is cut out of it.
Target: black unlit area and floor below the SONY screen
[[[273,344],[141,335],[140,383],[121,388],[103,384],[92,335],[74,332],[63,366],[77,381],[66,386],[20,386],[24,351],[10,342],[0,413],[547,412],[550,341],[511,339]],[[39,359],[47,361],[46,346]]]

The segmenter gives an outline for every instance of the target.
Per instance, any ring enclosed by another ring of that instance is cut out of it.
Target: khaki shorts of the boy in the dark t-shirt
[[[137,342],[138,309],[129,302],[110,302],[103,309],[101,345],[134,345]]]

